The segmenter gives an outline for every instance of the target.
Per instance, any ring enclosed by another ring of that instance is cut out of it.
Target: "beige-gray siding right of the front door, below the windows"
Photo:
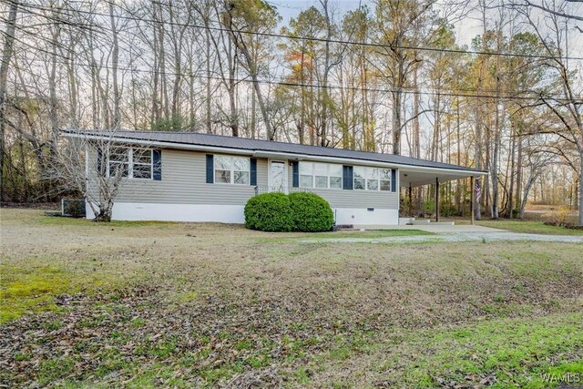
[[[363,165],[353,165],[363,166]],[[316,193],[326,199],[332,208],[380,208],[384,210],[399,209],[399,174],[397,171],[397,191],[381,190],[348,190],[348,189],[320,189],[320,188],[292,188],[292,167],[288,171],[290,192],[294,190],[306,190]]]

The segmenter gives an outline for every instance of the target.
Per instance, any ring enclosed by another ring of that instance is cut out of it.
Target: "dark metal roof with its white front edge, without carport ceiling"
[[[237,148],[241,150],[254,150],[263,152],[289,153],[307,156],[355,159],[362,161],[375,161],[409,165],[424,168],[455,169],[476,171],[485,173],[485,170],[466,168],[443,162],[435,162],[426,159],[414,159],[394,154],[373,153],[367,151],[347,150],[343,148],[323,148],[319,146],[298,145],[295,143],[276,142],[250,138],[225,137],[191,131],[76,131],[64,130],[65,133],[85,134],[90,136],[106,136],[111,138],[136,139],[160,144],[174,143],[182,145],[199,145],[216,148]]]

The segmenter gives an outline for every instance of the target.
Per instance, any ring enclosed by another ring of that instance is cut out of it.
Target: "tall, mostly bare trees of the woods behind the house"
[[[486,169],[493,218],[528,199],[583,209],[577,2],[314,4],[3,0],[2,201],[63,194],[43,174],[60,129],[126,128]],[[441,190],[445,214],[468,214],[469,180]],[[431,199],[415,189],[414,208]]]

